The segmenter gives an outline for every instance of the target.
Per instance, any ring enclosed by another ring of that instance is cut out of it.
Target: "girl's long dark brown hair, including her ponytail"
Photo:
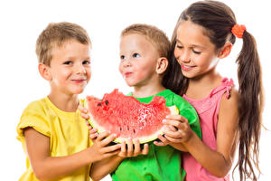
[[[236,37],[231,28],[237,24],[228,5],[217,1],[200,1],[190,5],[179,17],[172,37],[172,58],[164,76],[164,86],[181,95],[188,88],[189,79],[182,75],[181,67],[173,56],[176,44],[176,32],[182,21],[191,21],[205,28],[210,42],[221,48],[227,41],[234,44]],[[261,132],[261,114],[263,110],[263,90],[261,67],[254,37],[243,33],[242,50],[238,63],[238,167],[240,180],[257,180],[253,165],[258,167],[259,138]]]

